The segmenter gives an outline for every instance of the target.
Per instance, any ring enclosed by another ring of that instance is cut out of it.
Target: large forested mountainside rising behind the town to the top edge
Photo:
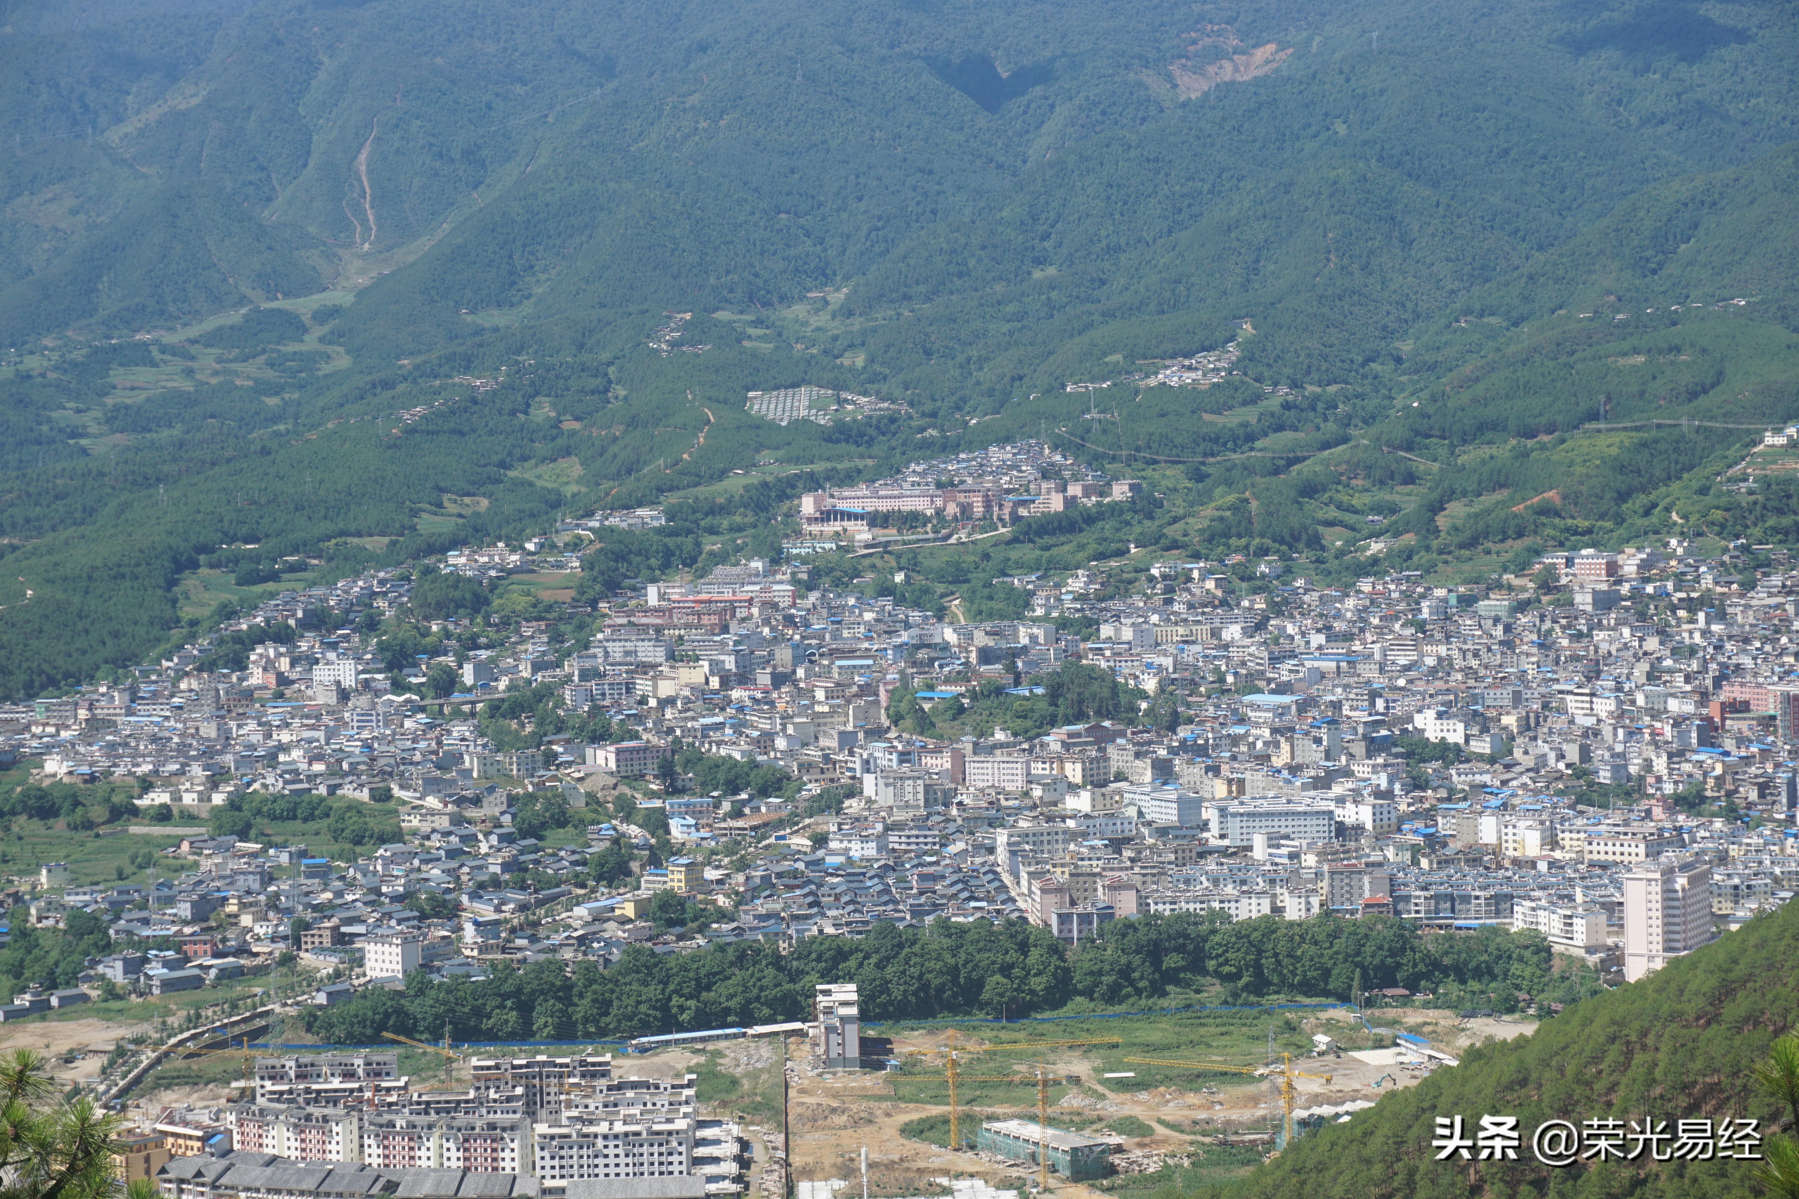
[[[1106,545],[1338,573],[1364,509],[1423,570],[1799,520],[1700,491],[1750,433],[1576,433],[1799,417],[1774,0],[52,2],[0,61],[0,694],[153,647],[236,545],[398,561],[926,431],[1128,457],[1168,503]],[[1128,386],[1232,338],[1229,386]],[[1060,431],[1108,379],[1105,448]],[[912,415],[743,412],[797,383]],[[1103,548],[1058,528],[993,548]]]

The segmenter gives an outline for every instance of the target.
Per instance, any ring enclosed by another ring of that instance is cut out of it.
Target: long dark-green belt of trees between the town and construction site
[[[1220,913],[1117,920],[1105,937],[1067,951],[1025,920],[923,928],[878,922],[864,938],[808,937],[783,953],[765,942],[725,942],[685,955],[631,946],[601,971],[559,962],[500,965],[477,983],[365,990],[308,1012],[333,1044],[369,1044],[383,1032],[459,1039],[586,1039],[768,1025],[801,1019],[813,985],[853,980],[871,1021],[950,1016],[1106,1010],[1223,983],[1223,1001],[1347,999],[1356,987],[1437,989],[1446,1001],[1517,1010],[1518,994],[1580,999],[1581,974],[1551,974],[1549,944],[1535,933],[1423,935],[1385,917],[1231,924]],[[524,1016],[529,1012],[531,1016]]]

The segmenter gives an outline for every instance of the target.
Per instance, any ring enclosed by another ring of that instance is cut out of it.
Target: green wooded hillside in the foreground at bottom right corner
[[[1342,1125],[1299,1138],[1232,1199],[1317,1195],[1608,1195],[1714,1199],[1758,1194],[1749,1161],[1607,1161],[1551,1170],[1531,1159],[1545,1120],[1738,1120],[1781,1124],[1749,1066],[1799,1010],[1799,910],[1786,906],[1641,983],[1585,999],[1522,1041],[1470,1050],[1454,1070],[1383,1097]],[[1518,1161],[1434,1159],[1439,1116],[1517,1116]],[[1648,1156],[1648,1154],[1644,1154]]]

